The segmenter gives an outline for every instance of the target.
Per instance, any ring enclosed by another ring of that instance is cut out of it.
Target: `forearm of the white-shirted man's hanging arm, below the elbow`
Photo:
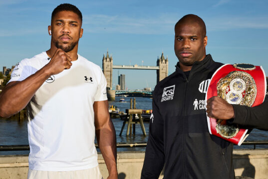
[[[116,136],[111,120],[102,128],[96,129],[96,137],[101,154],[110,176],[117,176],[116,169]]]

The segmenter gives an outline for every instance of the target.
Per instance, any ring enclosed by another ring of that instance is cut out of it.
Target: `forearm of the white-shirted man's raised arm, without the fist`
[[[42,68],[21,82],[7,84],[0,93],[0,116],[9,117],[23,109],[48,77]]]

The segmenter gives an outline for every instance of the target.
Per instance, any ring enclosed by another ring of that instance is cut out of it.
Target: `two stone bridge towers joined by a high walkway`
[[[160,58],[157,58],[156,66],[139,66],[139,65],[113,65],[113,57],[107,54],[102,58],[102,70],[107,81],[107,87],[112,89],[113,69],[133,69],[133,70],[156,70],[156,82],[160,82],[168,76],[168,58],[165,58],[162,52]]]

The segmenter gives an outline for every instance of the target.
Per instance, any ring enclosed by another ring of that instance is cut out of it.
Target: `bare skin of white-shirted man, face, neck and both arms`
[[[82,21],[74,12],[55,14],[48,26],[48,32],[51,30],[51,46],[46,51],[51,58],[49,63],[25,80],[6,85],[0,93],[0,117],[7,118],[22,110],[46,79],[71,68],[71,62],[77,60],[78,41],[83,35],[81,26]],[[93,109],[96,138],[109,172],[107,179],[117,179],[115,130],[108,101],[95,101]]]

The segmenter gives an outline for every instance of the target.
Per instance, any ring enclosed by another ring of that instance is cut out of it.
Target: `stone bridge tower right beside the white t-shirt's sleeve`
[[[112,89],[113,57],[109,56],[108,51],[106,57],[105,54],[103,54],[102,70],[107,82],[107,88]]]

